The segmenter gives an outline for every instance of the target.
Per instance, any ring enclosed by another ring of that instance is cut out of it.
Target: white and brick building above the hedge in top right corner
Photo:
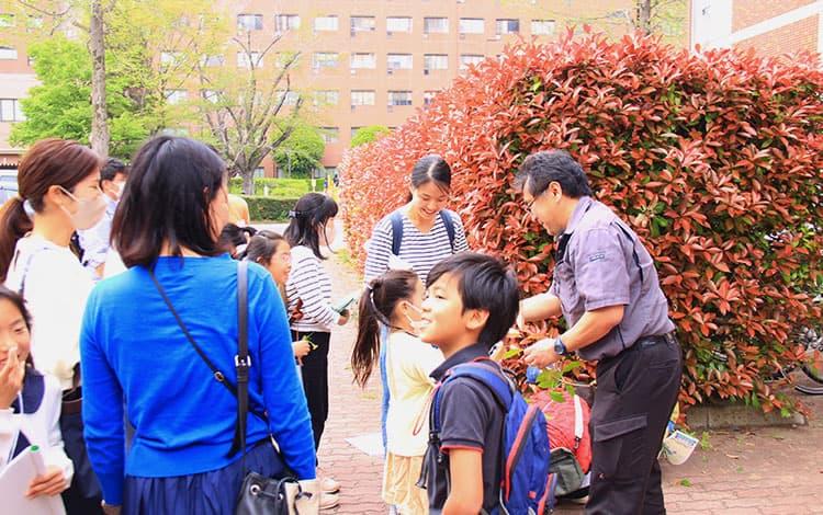
[[[691,0],[690,48],[823,54],[823,0]]]

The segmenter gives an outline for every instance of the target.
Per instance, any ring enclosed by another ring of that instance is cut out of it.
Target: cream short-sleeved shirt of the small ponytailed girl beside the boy
[[[429,397],[435,388],[435,380],[429,374],[442,363],[443,353],[420,339],[402,331],[388,335],[386,375],[391,396],[386,415],[386,448],[393,455],[426,454]]]

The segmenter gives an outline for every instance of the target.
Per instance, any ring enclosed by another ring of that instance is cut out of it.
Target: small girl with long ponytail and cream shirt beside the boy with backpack
[[[443,362],[437,347],[417,336],[424,286],[417,274],[390,270],[369,283],[360,298],[357,342],[351,354],[354,381],[364,387],[380,359],[381,324],[388,328],[385,366],[391,393],[386,416],[383,500],[401,514],[427,514],[428,497],[415,485],[429,435],[429,375]]]

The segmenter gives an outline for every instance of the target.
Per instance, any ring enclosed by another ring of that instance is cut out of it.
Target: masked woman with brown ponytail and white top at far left
[[[0,219],[0,276],[32,314],[32,357],[63,388],[60,428],[75,466],[64,493],[69,513],[100,511],[100,485],[88,466],[80,414],[79,335],[92,279],[69,250],[76,230],[105,211],[100,157],[75,141],[45,139],[20,161],[20,197]]]

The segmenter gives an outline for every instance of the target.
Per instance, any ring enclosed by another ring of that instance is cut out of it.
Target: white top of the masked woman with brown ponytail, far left
[[[92,278],[68,247],[27,236],[18,241],[5,277],[14,291],[21,285],[32,314],[34,366],[67,390],[80,363],[80,325]]]

